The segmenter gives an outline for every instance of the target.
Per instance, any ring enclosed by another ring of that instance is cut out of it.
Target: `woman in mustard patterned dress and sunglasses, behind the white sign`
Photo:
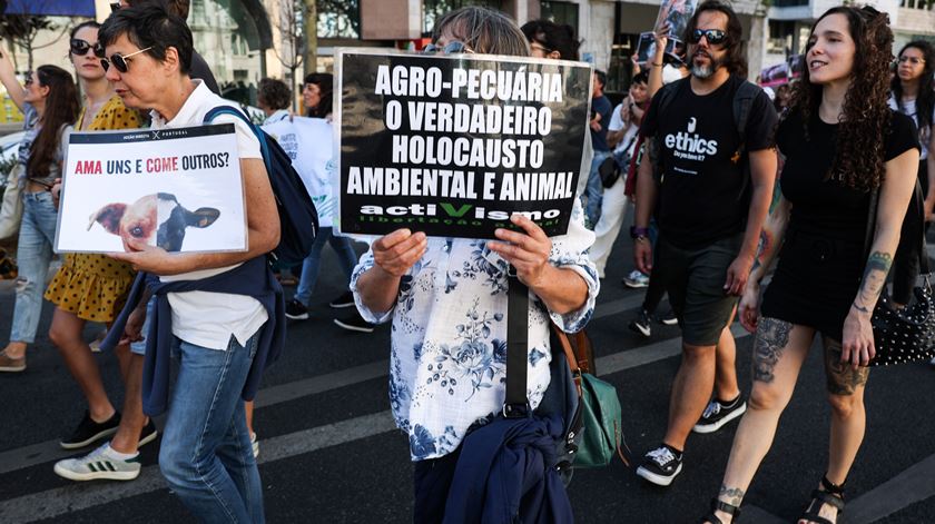
[[[85,93],[85,106],[75,130],[137,128],[140,126],[139,115],[124,106],[114,87],[105,78],[100,65],[104,47],[98,42],[99,28],[99,23],[87,21],[71,30],[71,65]],[[144,431],[146,418],[138,395],[126,395],[124,417],[127,419],[121,421],[120,413],[111,404],[104,388],[97,359],[82,337],[87,322],[107,325],[114,322],[124,307],[134,277],[135,271],[129,264],[98,254],[68,254],[61,269],[46,290],[46,299],[56,305],[49,338],[58,347],[68,370],[88,402],[88,409],[78,426],[61,439],[60,445],[66,449],[76,449],[100,439],[106,441],[116,434],[111,442],[90,455],[56,464],[56,473],[66,478],[134,478],[139,474],[139,464],[131,459],[137,453],[139,441],[145,443],[156,438],[156,427],[151,422]],[[120,372],[125,382],[129,384],[127,375],[139,373],[142,356],[130,355],[127,345],[118,346],[116,354]],[[131,365],[132,358],[139,358],[136,366]],[[117,471],[95,471],[96,468],[88,467],[89,462],[104,461],[109,462]]]

